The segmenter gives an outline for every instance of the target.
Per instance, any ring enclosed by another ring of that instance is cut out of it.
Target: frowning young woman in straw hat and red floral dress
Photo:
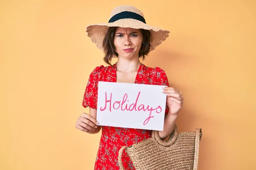
[[[76,128],[91,134],[102,129],[95,170],[119,170],[119,149],[150,138],[151,130],[100,127],[96,120],[98,82],[167,85],[163,90],[167,96],[164,130],[159,131],[161,139],[166,139],[174,130],[177,113],[183,106],[183,96],[177,89],[169,87],[163,69],[147,67],[140,58],[144,59],[166,40],[169,31],[148,26],[143,13],[133,6],[118,6],[113,9],[108,23],[90,25],[87,32],[92,42],[105,52],[104,61],[109,66],[98,66],[90,74],[82,102],[84,108],[90,107],[90,113],[79,116]],[[111,65],[113,57],[117,57],[117,62]],[[122,153],[122,162],[126,170],[134,170],[125,152]]]

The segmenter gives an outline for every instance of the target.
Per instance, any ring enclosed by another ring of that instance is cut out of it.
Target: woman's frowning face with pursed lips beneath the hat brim
[[[143,40],[140,29],[117,27],[114,34],[114,45],[118,57],[139,57],[139,51]]]

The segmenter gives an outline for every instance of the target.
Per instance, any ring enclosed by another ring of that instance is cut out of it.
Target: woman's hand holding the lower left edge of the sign
[[[97,125],[99,122],[87,113],[82,113],[76,121],[76,128],[88,133],[95,131]]]

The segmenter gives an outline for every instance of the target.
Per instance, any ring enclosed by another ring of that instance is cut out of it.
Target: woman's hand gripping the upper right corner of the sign
[[[164,87],[163,93],[167,94],[167,105],[169,107],[169,113],[172,115],[177,114],[183,107],[183,96],[180,91],[172,87]]]

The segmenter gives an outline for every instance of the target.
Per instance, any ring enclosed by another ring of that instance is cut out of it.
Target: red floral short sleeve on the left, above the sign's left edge
[[[99,82],[99,74],[100,69],[104,66],[98,66],[94,68],[89,76],[89,80],[87,82],[87,86],[84,92],[84,98],[82,102],[82,106],[84,108],[90,107],[93,109],[97,109],[97,98],[98,98],[98,82]]]

